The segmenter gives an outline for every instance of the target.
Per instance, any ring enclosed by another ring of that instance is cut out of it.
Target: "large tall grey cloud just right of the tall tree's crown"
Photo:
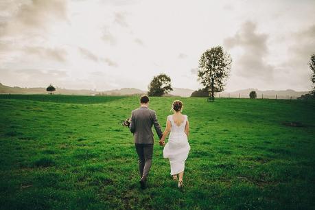
[[[239,48],[243,53],[233,59],[232,70],[244,78],[260,78],[270,82],[275,67],[266,62],[268,56],[268,35],[258,34],[253,22],[243,23],[240,30],[229,38],[224,39],[227,49]],[[233,65],[235,66],[233,68]]]

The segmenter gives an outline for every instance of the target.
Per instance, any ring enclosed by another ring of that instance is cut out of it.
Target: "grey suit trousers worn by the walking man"
[[[139,173],[140,177],[148,176],[152,165],[153,144],[135,143],[137,154],[139,156]]]

